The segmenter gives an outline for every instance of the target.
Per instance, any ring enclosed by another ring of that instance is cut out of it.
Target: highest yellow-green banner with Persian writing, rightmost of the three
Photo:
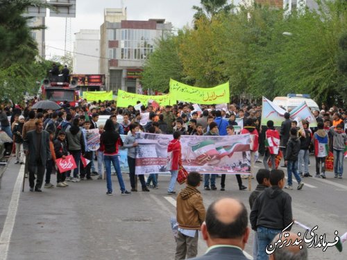
[[[171,101],[185,101],[197,104],[223,104],[230,102],[229,82],[217,87],[192,87],[170,79]]]

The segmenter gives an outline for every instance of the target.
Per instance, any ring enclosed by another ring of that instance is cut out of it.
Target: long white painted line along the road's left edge
[[[24,177],[24,164],[19,169],[18,177],[13,187],[12,197],[10,205],[8,206],[8,213],[5,223],[3,224],[3,230],[0,236],[0,260],[6,260],[8,255],[8,248],[10,247],[10,240],[12,236],[13,227],[15,226],[15,220],[17,215],[17,209],[19,204],[19,196],[22,191],[22,183]]]

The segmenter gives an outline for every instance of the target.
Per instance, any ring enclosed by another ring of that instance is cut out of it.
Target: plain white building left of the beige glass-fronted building
[[[81,30],[75,33],[74,74],[99,74],[100,31]]]

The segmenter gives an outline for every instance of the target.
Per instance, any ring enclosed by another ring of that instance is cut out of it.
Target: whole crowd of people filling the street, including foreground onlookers
[[[200,229],[209,250],[196,259],[229,259],[226,255],[232,255],[235,259],[246,259],[242,250],[251,235],[255,238],[254,259],[268,259],[266,245],[273,239],[276,241],[281,230],[293,220],[291,197],[282,190],[294,189],[292,175],[298,182],[296,189],[301,190],[305,187],[303,180],[306,177],[314,175],[323,179],[341,179],[344,173],[347,112],[336,106],[328,109],[322,105],[321,111],[313,111],[317,121],[314,128],[310,128],[305,120],[291,120],[288,112],[285,113],[282,125],[276,128],[271,120],[267,121],[266,125],[261,125],[262,106],[246,101],[221,109],[214,105],[200,105],[201,112],[197,112],[196,107],[189,103],[164,107],[149,104],[135,110],[132,105],[119,108],[115,101],[88,103],[83,100],[76,107],[70,107],[66,102],[61,109],[54,111],[35,110],[32,108],[35,102],[37,100],[29,101],[25,107],[3,104],[0,110],[1,131],[6,132],[15,144],[12,146],[6,143],[6,153],[13,154],[15,164],[25,164],[24,174],[28,177],[29,189],[32,192],[42,192],[42,187],[66,188],[69,182],[103,180],[105,176],[106,194],[112,196],[115,194],[111,179],[112,169],[117,175],[121,195],[137,192],[137,177],[142,191],[148,193],[150,189],[158,189],[158,174],[150,174],[148,178],[135,175],[135,158],[139,145],[137,132],[149,132],[174,137],[167,147],[167,152],[171,155],[167,168],[171,173],[167,193],[175,195],[178,170],[182,166],[180,137],[237,134],[251,136],[251,175],[235,175],[240,191],[247,189],[242,182],[245,178],[255,177],[257,180],[258,185],[249,198],[251,214],[247,213],[242,202],[232,198],[221,198],[205,211],[203,198],[197,187],[201,185],[206,191],[225,191],[226,175],[201,175],[195,171],[189,173],[187,186],[177,195],[178,234],[175,259],[196,257]],[[143,113],[149,113],[149,120],[145,124],[141,121]],[[99,123],[99,116],[108,116],[108,119],[105,123]],[[242,129],[236,132],[240,121]],[[87,146],[86,131],[90,129],[99,129],[100,148],[96,151]],[[124,141],[121,135],[126,135]],[[280,149],[269,145],[266,141],[269,138],[279,139]],[[130,189],[126,189],[121,173],[120,149],[127,149]],[[334,157],[333,175],[325,171],[329,152]],[[310,154],[315,157],[315,173],[309,172],[309,165],[314,163],[310,162]],[[56,160],[65,159],[69,155],[74,157],[77,167],[72,171],[59,173]],[[262,161],[257,159],[260,156],[263,157]],[[84,160],[90,163],[85,163]],[[264,164],[257,173],[255,162]],[[285,171],[280,168],[287,170],[287,180]],[[52,179],[54,172],[56,180]],[[219,177],[220,185],[217,187]],[[248,229],[248,220],[254,234]],[[290,233],[290,236],[295,239],[296,234]],[[294,245],[282,248],[271,254],[271,259],[285,259],[281,256],[289,253],[300,254],[296,259],[307,259],[307,250],[299,251]]]

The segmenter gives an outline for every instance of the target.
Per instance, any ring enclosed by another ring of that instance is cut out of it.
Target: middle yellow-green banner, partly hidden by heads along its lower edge
[[[157,102],[159,105],[170,105],[169,95],[147,96],[129,93],[118,89],[117,107],[128,107],[128,105],[136,105],[137,101],[140,101],[143,105],[147,105],[147,103],[151,100]]]

